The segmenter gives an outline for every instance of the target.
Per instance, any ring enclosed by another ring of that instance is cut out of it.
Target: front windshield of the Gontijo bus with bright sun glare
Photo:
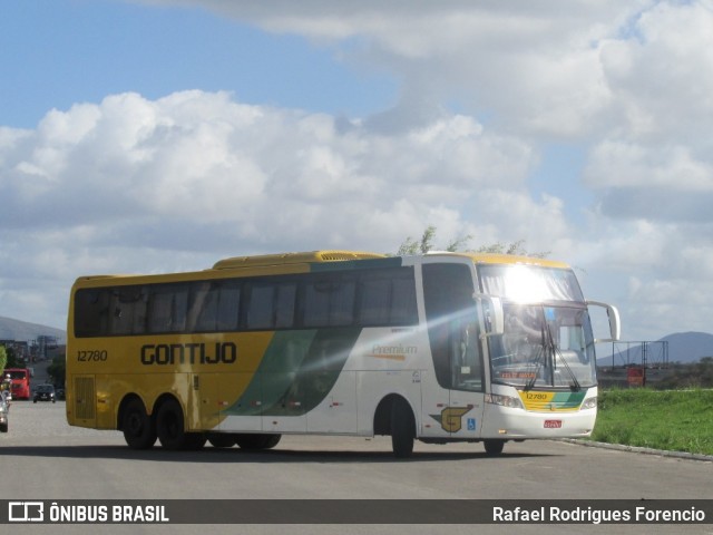
[[[490,338],[492,381],[524,389],[596,385],[589,314],[569,270],[480,266],[485,293],[504,299],[505,329]]]

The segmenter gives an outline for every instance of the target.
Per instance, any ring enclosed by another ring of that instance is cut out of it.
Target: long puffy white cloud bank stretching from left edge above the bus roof
[[[59,296],[96,272],[203,269],[261,251],[394,251],[428,224],[469,224],[451,206],[521,189],[530,159],[527,144],[459,115],[387,136],[197,90],[51,110],[36,130],[2,132],[3,307],[28,307],[48,281],[64,285]],[[26,288],[10,290],[19,273]]]

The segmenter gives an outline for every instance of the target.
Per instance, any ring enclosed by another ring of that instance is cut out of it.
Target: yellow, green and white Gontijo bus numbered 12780
[[[274,447],[285,434],[424,442],[586,437],[595,339],[564,263],[318,251],[71,290],[67,419],[131,448]]]

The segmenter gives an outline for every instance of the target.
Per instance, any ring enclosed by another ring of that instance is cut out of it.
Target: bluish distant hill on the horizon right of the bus
[[[657,340],[656,342],[668,342],[668,362],[697,362],[703,357],[713,357],[713,334],[707,332],[676,332]],[[649,342],[647,347],[647,362],[649,364],[662,362],[664,358],[663,343]],[[599,348],[597,348],[599,349]],[[642,344],[641,342],[631,342],[628,352],[626,350],[626,341],[615,344],[614,364],[624,366],[627,362],[633,364],[642,363]],[[597,359],[597,366],[612,366],[612,354]]]

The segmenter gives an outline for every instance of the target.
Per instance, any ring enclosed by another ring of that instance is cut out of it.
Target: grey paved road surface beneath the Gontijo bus
[[[69,427],[65,402],[16,401],[0,435],[0,499],[713,499],[713,463],[561,441],[417,442],[395,460],[389,437],[283,437],[270,451],[129,449],[120,432]],[[275,513],[276,515],[279,512]],[[365,512],[368,514],[368,510]],[[7,527],[7,526],[4,526]],[[681,525],[21,525],[13,533],[700,533]],[[3,532],[6,533],[6,532]],[[10,533],[10,532],[7,532]]]

